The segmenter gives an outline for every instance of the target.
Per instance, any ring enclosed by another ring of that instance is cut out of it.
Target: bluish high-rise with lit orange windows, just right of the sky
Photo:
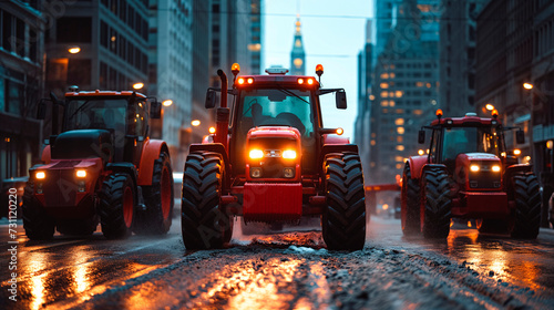
[[[418,130],[434,116],[439,96],[439,0],[404,0],[375,63],[369,175],[393,183],[419,149]],[[377,31],[379,32],[379,30]]]

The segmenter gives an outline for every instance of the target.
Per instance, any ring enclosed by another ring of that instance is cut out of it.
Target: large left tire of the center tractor
[[[217,153],[192,153],[186,157],[181,229],[189,250],[220,248],[230,240],[233,218],[219,208],[224,175]]]

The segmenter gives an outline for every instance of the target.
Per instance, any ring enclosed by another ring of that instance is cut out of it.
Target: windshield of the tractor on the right
[[[444,128],[442,161],[453,161],[463,153],[489,153],[500,156],[501,135],[495,127]]]

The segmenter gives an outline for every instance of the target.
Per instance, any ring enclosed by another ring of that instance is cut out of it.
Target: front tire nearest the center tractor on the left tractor
[[[100,192],[100,223],[106,239],[124,239],[133,231],[136,185],[129,174],[107,176]]]

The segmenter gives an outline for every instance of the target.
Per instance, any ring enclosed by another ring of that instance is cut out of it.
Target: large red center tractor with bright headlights
[[[320,89],[314,76],[244,75],[238,64],[227,90],[208,89],[206,107],[220,92],[214,143],[191,145],[183,178],[182,229],[188,249],[222,247],[230,240],[234,216],[248,224],[296,223],[322,216],[329,249],[357,250],[366,236],[363,176],[358,147],[325,128],[320,96],[336,93],[346,108],[342,89]],[[318,65],[321,76],[324,69]],[[234,96],[232,112],[227,93]],[[229,123],[230,116],[230,123]]]

